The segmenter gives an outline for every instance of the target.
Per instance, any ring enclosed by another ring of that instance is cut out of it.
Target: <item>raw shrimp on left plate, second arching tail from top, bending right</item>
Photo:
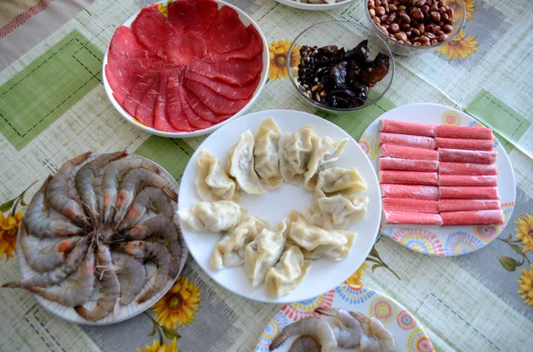
[[[102,180],[102,191],[104,192],[104,223],[111,221],[111,216],[115,210],[116,195],[118,186],[123,176],[135,168],[146,168],[160,174],[161,169],[140,158],[128,158],[116,160],[107,166]]]

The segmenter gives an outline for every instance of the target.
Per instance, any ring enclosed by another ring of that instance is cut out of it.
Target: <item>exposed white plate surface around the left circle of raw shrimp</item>
[[[98,156],[99,156],[99,154],[91,155],[91,157],[88,160],[86,160],[83,164],[81,164],[78,167],[76,167],[76,171],[77,171],[77,169],[83,167],[84,164],[86,164],[87,162],[93,160],[94,158],[96,158]],[[147,160],[150,163],[154,164],[155,166],[161,168],[154,161],[148,160],[148,159],[143,158],[143,157],[141,157],[139,155],[130,154],[126,158],[144,159],[144,160]],[[176,183],[176,180],[174,179],[174,177],[172,177],[171,174],[166,172],[166,170],[164,170],[164,168],[161,168],[161,169],[162,169],[161,176],[163,176],[169,182],[169,186],[174,191],[177,191],[178,190],[178,183]],[[176,205],[175,204],[172,204],[172,207],[174,208],[174,210],[176,210]],[[19,241],[20,236],[24,236],[24,234],[25,234],[24,231],[25,230],[26,229],[25,229],[25,227],[23,225],[20,226],[20,234],[18,236],[17,241]],[[48,240],[49,239],[41,239],[42,246],[47,246],[45,242],[47,242]],[[187,261],[187,255],[188,255],[187,246],[185,246],[183,238],[180,238],[180,242],[182,244],[182,255],[181,255],[181,259],[179,261],[179,272],[181,272],[181,270],[183,270],[183,267],[185,266],[185,262]],[[17,243],[17,258],[19,260],[20,275],[22,276],[22,278],[28,278],[28,277],[36,274],[36,271],[31,269],[31,267],[28,265],[28,262],[26,262],[26,258],[24,256],[24,254],[22,253],[22,249],[20,247],[20,243]],[[148,262],[147,265],[146,265],[146,268],[147,268],[147,276],[148,276],[149,279],[147,281],[147,284],[141,290],[141,292],[137,294],[137,297],[139,297],[140,294],[142,294],[145,291],[147,291],[147,289],[150,288],[152,286],[152,284],[154,283],[154,279],[155,279],[155,275],[154,274],[155,274],[155,271],[156,271],[155,270],[155,265],[153,263]],[[148,308],[150,308],[156,301],[159,301],[159,299],[161,297],[163,297],[164,293],[166,293],[171,288],[171,286],[174,284],[174,281],[176,281],[176,280],[175,279],[171,280],[169,278],[169,280],[168,280],[167,284],[164,286],[163,290],[160,291],[159,293],[155,293],[155,295],[152,296],[152,298],[149,299],[148,301],[145,301],[142,304],[137,304],[136,300],[133,300],[127,306],[124,306],[124,307],[121,306],[120,309],[118,310],[118,314],[115,317],[112,314],[110,314],[107,317],[103,317],[103,318],[101,318],[100,320],[98,320],[96,322],[91,322],[91,321],[85,320],[83,317],[80,317],[76,313],[76,311],[73,308],[71,308],[71,307],[63,306],[63,305],[61,305],[61,304],[59,304],[59,303],[57,303],[55,301],[48,301],[48,300],[44,299],[42,296],[40,296],[38,294],[34,294],[34,297],[41,304],[41,306],[43,306],[44,309],[48,310],[54,316],[60,317],[60,318],[65,319],[65,320],[68,320],[69,322],[76,323],[76,324],[82,324],[82,325],[109,325],[109,324],[115,324],[115,323],[118,323],[118,322],[122,322],[122,321],[124,321],[126,319],[129,319],[131,317],[135,317],[138,314],[140,314],[143,311],[145,311]],[[97,284],[97,285],[99,285],[99,284]],[[97,288],[98,287],[99,286],[97,286]],[[85,308],[92,309],[94,306],[96,306],[96,301],[99,298],[99,293],[97,291],[98,291],[98,289],[95,290],[95,293],[91,297],[91,301],[89,301],[89,302],[84,304]]]

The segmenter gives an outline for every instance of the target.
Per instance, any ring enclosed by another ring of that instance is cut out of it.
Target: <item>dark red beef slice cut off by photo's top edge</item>
[[[202,33],[219,13],[219,5],[212,0],[175,1],[168,9],[169,20],[179,33]]]

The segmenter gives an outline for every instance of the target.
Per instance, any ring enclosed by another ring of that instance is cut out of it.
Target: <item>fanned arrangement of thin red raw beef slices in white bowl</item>
[[[248,104],[263,69],[263,42],[235,10],[212,0],[179,0],[168,20],[154,4],[119,27],[107,56],[118,104],[162,131],[209,128]]]

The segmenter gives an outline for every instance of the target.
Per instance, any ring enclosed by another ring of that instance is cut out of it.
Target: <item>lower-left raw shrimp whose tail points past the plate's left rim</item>
[[[74,285],[46,288],[28,286],[26,289],[43,296],[47,300],[57,301],[64,306],[75,307],[91,299],[94,283],[94,245],[91,244],[89,253],[87,253],[82,266],[78,270],[78,277]]]

